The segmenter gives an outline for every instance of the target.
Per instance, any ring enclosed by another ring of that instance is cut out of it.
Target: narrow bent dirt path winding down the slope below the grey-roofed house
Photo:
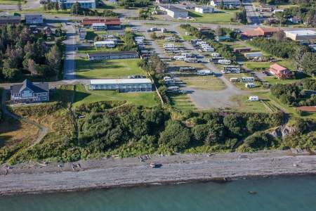
[[[42,125],[42,124],[38,124],[37,122],[33,122],[32,120],[27,120],[27,119],[25,119],[23,117],[20,117],[18,115],[10,113],[6,109],[6,94],[7,94],[7,90],[4,89],[2,91],[2,96],[1,96],[1,110],[2,110],[2,112],[5,115],[8,115],[9,117],[12,117],[15,120],[26,122],[28,124],[33,124],[34,126],[39,128],[39,132],[37,134],[37,139],[32,143],[31,146],[29,146],[29,148],[31,148],[32,146],[35,146],[37,143],[41,142],[41,140],[44,138],[44,136],[46,136],[46,134],[48,133],[48,128],[44,127],[44,125]]]

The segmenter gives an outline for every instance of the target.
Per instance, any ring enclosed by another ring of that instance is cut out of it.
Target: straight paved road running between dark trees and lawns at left
[[[66,44],[65,50],[65,67],[64,67],[64,79],[72,80],[76,79],[75,72],[75,59],[76,59],[76,44],[78,35],[73,25],[63,23],[62,26],[67,30],[67,39],[64,41]]]

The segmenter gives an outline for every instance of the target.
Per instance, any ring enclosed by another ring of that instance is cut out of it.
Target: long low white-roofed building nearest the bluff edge
[[[152,81],[147,78],[135,79],[92,79],[92,90],[152,91]]]

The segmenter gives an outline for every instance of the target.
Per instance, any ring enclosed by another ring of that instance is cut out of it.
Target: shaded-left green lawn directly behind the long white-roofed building
[[[145,75],[137,63],[139,58],[116,60],[87,60],[77,58],[76,71],[79,78],[126,78],[129,75]]]

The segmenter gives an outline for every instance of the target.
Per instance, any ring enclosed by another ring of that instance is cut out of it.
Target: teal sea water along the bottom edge
[[[1,196],[0,210],[309,211],[316,210],[316,176]]]

